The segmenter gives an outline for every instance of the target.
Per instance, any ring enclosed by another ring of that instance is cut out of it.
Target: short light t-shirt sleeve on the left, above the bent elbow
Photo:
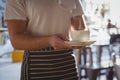
[[[26,20],[25,3],[23,0],[7,0],[5,20]]]

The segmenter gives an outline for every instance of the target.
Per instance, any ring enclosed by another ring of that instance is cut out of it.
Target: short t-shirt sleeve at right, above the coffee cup
[[[72,16],[78,16],[84,14],[82,3],[79,0],[75,0],[75,9],[72,10]]]

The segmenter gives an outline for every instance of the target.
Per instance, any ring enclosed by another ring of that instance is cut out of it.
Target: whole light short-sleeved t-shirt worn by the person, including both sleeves
[[[79,0],[7,0],[5,20],[27,20],[27,33],[68,35],[71,16],[82,15]]]

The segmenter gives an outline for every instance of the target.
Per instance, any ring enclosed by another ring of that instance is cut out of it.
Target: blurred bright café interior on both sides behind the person
[[[80,51],[80,78],[120,80],[120,1],[81,1],[90,40],[96,42]],[[0,0],[0,80],[20,80],[24,52],[15,50],[9,40],[4,22],[5,3],[6,0]]]

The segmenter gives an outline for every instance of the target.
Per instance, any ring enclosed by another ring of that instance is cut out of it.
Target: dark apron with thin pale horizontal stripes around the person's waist
[[[71,49],[25,51],[21,80],[78,80]]]

